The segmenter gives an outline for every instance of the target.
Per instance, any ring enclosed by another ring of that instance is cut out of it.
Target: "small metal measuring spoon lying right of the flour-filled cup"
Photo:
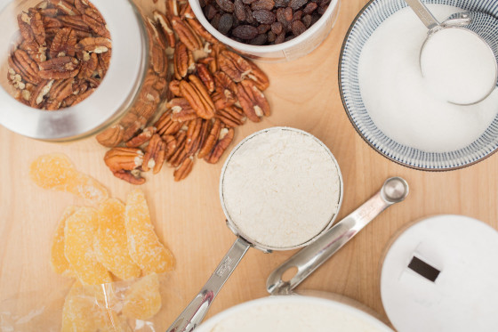
[[[325,231],[315,242],[301,249],[271,272],[266,283],[269,294],[290,294],[294,287],[341,249],[367,223],[370,223],[389,206],[404,200],[407,195],[408,183],[404,179],[400,177],[388,179],[374,197],[368,199],[341,222]],[[296,274],[289,281],[284,281],[282,276],[285,271],[292,268],[297,268]]]

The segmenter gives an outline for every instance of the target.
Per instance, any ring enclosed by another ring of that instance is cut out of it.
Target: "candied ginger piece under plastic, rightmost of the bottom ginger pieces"
[[[123,314],[134,320],[149,320],[161,309],[159,278],[156,273],[138,279],[124,296]]]

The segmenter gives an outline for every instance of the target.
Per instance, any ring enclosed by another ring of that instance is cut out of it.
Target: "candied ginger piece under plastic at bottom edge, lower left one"
[[[113,300],[109,285],[83,286],[76,281],[62,309],[62,332],[121,332],[124,321],[108,307]],[[110,298],[109,298],[110,297]]]

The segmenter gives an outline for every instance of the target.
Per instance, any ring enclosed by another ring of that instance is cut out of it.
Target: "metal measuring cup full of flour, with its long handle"
[[[220,179],[221,206],[237,239],[199,294],[168,331],[191,331],[249,247],[270,253],[314,242],[341,207],[342,175],[333,154],[315,136],[272,127],[232,150]]]

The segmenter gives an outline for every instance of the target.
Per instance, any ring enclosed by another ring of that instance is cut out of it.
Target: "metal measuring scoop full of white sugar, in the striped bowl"
[[[406,0],[429,28],[420,65],[430,89],[446,101],[483,101],[498,82],[498,20],[484,12],[461,12],[439,23],[421,0]]]

